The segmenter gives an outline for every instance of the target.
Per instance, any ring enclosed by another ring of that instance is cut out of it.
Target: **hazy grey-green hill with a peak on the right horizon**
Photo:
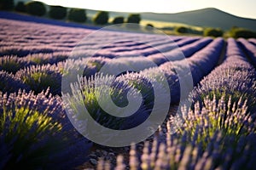
[[[229,30],[232,26],[244,27],[256,31],[256,20],[241,18],[217,8],[202,8],[176,14],[143,13],[144,20],[178,22],[193,26],[219,27]]]

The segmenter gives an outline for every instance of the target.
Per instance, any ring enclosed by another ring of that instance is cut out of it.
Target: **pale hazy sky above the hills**
[[[256,0],[41,0],[50,5],[119,12],[177,13],[219,8],[230,14],[256,19]]]

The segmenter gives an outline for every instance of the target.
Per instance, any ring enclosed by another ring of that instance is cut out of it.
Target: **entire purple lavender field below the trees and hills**
[[[160,34],[103,30],[99,34],[104,37],[81,42],[94,31],[0,19],[0,169],[255,169],[256,39],[166,39]],[[102,48],[108,41],[114,43]],[[135,71],[102,75],[104,65],[113,71],[132,65]],[[68,84],[79,89],[65,95],[61,80],[81,67],[82,77]],[[182,94],[183,77],[193,80],[188,94]],[[75,105],[79,103],[104,127],[137,127],[154,107],[156,87],[150,81],[163,78],[171,96],[169,114],[157,132],[139,144],[118,149],[95,144],[67,116],[70,109],[74,122],[86,124]],[[125,95],[131,88],[143,97],[127,119],[109,116],[97,102],[105,91],[95,88],[96,83],[103,87],[112,80],[114,104],[127,105]],[[189,107],[183,106],[188,102]],[[177,105],[181,114],[176,114]],[[172,129],[177,119],[183,123]]]

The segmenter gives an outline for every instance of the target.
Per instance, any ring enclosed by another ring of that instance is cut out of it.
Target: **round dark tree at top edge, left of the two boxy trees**
[[[43,16],[46,14],[46,8],[44,3],[38,1],[31,1],[26,3],[26,12],[28,14],[36,15],[36,16]]]

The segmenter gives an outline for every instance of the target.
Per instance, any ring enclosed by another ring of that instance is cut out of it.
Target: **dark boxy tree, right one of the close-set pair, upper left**
[[[67,19],[74,22],[85,22],[87,20],[86,12],[82,8],[71,8],[67,14]]]

